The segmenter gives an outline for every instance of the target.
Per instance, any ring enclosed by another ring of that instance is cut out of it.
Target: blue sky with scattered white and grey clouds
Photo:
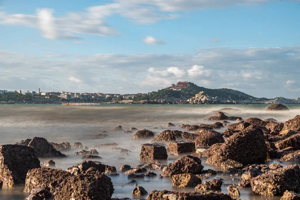
[[[178,80],[299,96],[299,0],[0,0],[0,88],[134,93]]]

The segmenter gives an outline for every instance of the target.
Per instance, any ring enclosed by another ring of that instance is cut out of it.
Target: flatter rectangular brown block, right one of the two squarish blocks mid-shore
[[[192,141],[175,141],[167,145],[167,151],[173,155],[182,153],[193,153],[196,151],[195,142]]]

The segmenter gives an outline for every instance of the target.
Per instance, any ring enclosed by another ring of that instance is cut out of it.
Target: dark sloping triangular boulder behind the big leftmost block
[[[38,157],[64,157],[60,151],[56,150],[52,144],[50,144],[43,137],[33,137],[28,143],[28,146],[32,146],[37,152]]]

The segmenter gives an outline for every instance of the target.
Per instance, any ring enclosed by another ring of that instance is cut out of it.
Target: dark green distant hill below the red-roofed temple
[[[254,96],[248,95],[244,92],[234,90],[234,89],[209,89],[202,86],[198,86],[192,82],[188,82],[189,86],[182,88],[181,90],[171,90],[167,88],[159,89],[158,91],[152,91],[147,94],[135,96],[133,100],[166,100],[166,101],[179,101],[187,100],[193,97],[200,91],[204,91],[207,95],[212,97],[218,97],[220,99],[232,99],[238,100],[248,100],[248,99],[258,99]]]

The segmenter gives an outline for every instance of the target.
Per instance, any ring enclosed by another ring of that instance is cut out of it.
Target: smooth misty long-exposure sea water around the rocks
[[[116,147],[129,149],[128,155],[111,151],[111,146],[97,149],[102,157],[104,164],[113,165],[117,169],[122,164],[134,166],[138,164],[138,156],[141,143],[150,142],[132,141],[133,133],[109,132],[117,125],[122,125],[123,129],[136,127],[138,129],[146,128],[155,132],[160,132],[167,122],[176,125],[176,129],[181,123],[198,124],[204,123],[203,118],[211,116],[207,114],[210,111],[218,110],[224,107],[241,109],[242,113],[230,113],[238,115],[243,119],[248,117],[258,117],[261,119],[275,118],[278,121],[286,121],[300,112],[300,105],[287,105],[291,111],[285,113],[266,113],[263,110],[267,105],[95,105],[95,106],[72,106],[72,105],[0,105],[0,144],[16,143],[22,139],[32,138],[34,136],[45,137],[48,141],[60,143],[68,141],[81,142],[89,149],[97,144],[116,142]],[[207,122],[206,122],[207,123]],[[154,127],[159,127],[154,129]],[[105,139],[92,139],[100,131],[108,131],[109,136]],[[221,129],[220,131],[223,131]],[[66,158],[53,158],[56,168],[66,169],[82,161],[81,156],[73,156],[73,150],[66,152],[69,155]],[[124,157],[123,160],[118,160]],[[167,163],[175,160],[177,157],[169,156]],[[49,160],[40,159],[41,162]],[[273,160],[274,162],[275,160]],[[212,168],[220,170],[218,167],[206,165],[202,161],[204,169]],[[193,191],[193,188],[178,189],[173,188],[169,178],[158,179],[160,171],[155,171],[156,177],[145,177],[137,179],[138,185],[143,186],[148,192],[152,189],[162,190],[180,190]],[[220,177],[224,179],[222,192],[227,192],[229,183],[237,184],[238,181],[232,181],[232,176],[220,175],[211,176],[209,179]],[[126,175],[110,176],[114,185],[113,197],[130,197],[134,188],[133,184],[127,184],[130,179]],[[209,180],[205,179],[205,180]],[[22,192],[23,186],[3,187],[0,190],[0,199],[23,199],[26,194]],[[279,199],[280,197],[265,197],[255,195],[250,188],[241,188],[240,198],[245,199]],[[145,198],[143,196],[142,198]]]

